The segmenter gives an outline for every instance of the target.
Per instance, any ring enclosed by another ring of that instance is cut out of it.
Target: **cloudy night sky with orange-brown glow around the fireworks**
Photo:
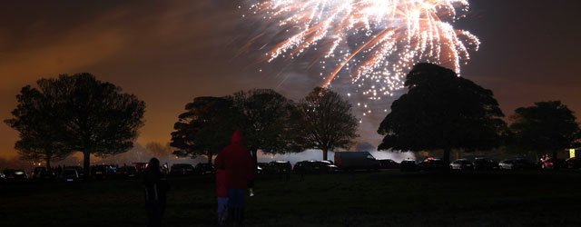
[[[561,100],[581,117],[581,31],[576,0],[470,0],[456,26],[478,35],[462,76],[492,90],[505,112]],[[0,118],[41,77],[89,72],[146,102],[138,143],[170,140],[193,97],[272,88],[298,101],[322,78],[296,61],[261,63],[244,48],[260,27],[235,0],[10,1],[0,9]],[[264,69],[259,72],[259,69]],[[389,104],[380,104],[388,108]],[[359,110],[355,110],[356,112]],[[359,141],[385,114],[364,118]],[[0,157],[15,156],[15,130],[0,124]],[[377,145],[377,144],[376,144]]]

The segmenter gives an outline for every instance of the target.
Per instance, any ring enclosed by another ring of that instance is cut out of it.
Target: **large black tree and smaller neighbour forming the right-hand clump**
[[[576,117],[559,101],[517,108],[509,123],[492,91],[436,64],[417,64],[406,78],[408,93],[391,104],[379,125],[379,150],[557,153],[579,147]]]

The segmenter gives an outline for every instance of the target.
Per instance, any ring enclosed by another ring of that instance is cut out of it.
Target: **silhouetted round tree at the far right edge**
[[[556,158],[558,152],[574,147],[581,138],[575,115],[560,101],[520,107],[511,120],[517,146],[538,154],[552,153]]]

